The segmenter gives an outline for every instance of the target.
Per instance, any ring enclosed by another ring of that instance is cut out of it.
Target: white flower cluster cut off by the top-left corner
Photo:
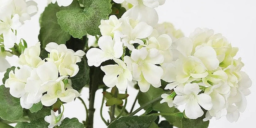
[[[17,41],[17,30],[24,24],[24,21],[31,20],[31,17],[38,11],[34,1],[25,0],[0,0],[0,72],[10,67],[6,56],[10,56],[5,48],[12,48]]]

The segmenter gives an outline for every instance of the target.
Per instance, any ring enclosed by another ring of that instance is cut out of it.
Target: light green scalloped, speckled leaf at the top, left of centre
[[[82,0],[85,9],[61,10],[57,13],[58,24],[74,38],[82,38],[87,33],[100,35],[101,19],[108,19],[111,13],[111,0]]]

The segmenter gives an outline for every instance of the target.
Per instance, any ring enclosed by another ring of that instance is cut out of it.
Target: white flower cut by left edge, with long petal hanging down
[[[21,27],[21,22],[18,14],[11,18],[11,14],[7,12],[4,15],[0,13],[0,35],[3,34],[4,46],[12,48],[17,40],[15,31]]]

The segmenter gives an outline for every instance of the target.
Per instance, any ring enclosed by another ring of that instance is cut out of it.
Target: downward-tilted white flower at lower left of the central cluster
[[[122,60],[114,59],[114,61],[117,65],[106,65],[100,67],[100,69],[106,74],[103,77],[103,82],[109,88],[116,86],[120,91],[125,91],[128,81],[132,81],[132,74]]]

